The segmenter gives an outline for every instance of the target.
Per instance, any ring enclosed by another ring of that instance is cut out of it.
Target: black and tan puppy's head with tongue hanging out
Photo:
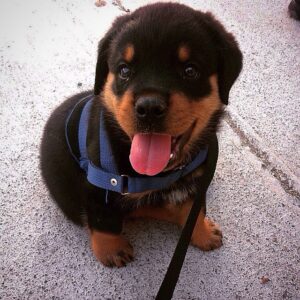
[[[241,67],[233,36],[210,14],[158,3],[118,18],[102,39],[95,95],[131,139],[132,167],[155,175],[217,123]]]

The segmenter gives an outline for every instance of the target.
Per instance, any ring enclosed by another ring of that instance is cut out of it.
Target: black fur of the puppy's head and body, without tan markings
[[[242,67],[242,55],[233,36],[210,14],[181,4],[158,3],[145,6],[132,14],[119,17],[113,23],[99,43],[88,151],[91,160],[99,164],[98,120],[99,112],[103,109],[119,172],[136,176],[128,160],[130,139],[101,101],[108,72],[117,74],[122,60],[120,48],[126,47],[128,42],[132,42],[139,53],[131,63],[134,73],[139,74],[130,82],[135,95],[145,90],[168,95],[175,90],[199,101],[196,99],[211,92],[209,76],[216,73],[220,98],[227,104],[230,88]],[[172,54],[176,53],[175,50],[182,43],[191,46],[192,62],[200,72],[196,79],[183,80],[184,64],[179,63]],[[116,79],[114,93],[118,96],[124,94],[128,84]],[[87,182],[85,173],[71,156],[65,140],[65,120],[69,111],[79,99],[90,93],[92,91],[69,98],[52,113],[41,144],[42,175],[51,195],[69,219],[77,224],[87,223],[91,229],[120,232],[123,216],[138,205],[161,205],[165,201],[173,201],[174,191],[186,193],[185,198],[197,193],[201,178],[188,177],[180,179],[170,189],[153,192],[138,201],[126,201],[126,197],[109,192],[110,204],[106,205],[105,191]],[[199,148],[210,143],[221,115],[222,110],[215,112],[186,160]],[[73,126],[71,135],[76,138],[76,134],[77,128]]]

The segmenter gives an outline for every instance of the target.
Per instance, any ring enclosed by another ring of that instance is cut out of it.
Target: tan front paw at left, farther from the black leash
[[[133,248],[120,235],[91,232],[91,247],[96,258],[107,267],[124,267],[133,260]]]

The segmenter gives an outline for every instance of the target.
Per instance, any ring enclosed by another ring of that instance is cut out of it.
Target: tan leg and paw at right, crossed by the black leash
[[[205,198],[202,201],[203,207],[199,213],[191,243],[201,250],[209,251],[222,246],[222,232],[216,223],[205,216]],[[169,203],[163,207],[142,207],[134,211],[130,217],[146,217],[164,220],[183,227],[189,215],[192,204],[192,201],[188,200],[177,205]]]

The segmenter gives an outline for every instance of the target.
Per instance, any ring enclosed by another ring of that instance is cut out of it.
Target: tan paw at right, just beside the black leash
[[[222,232],[216,223],[205,217],[202,222],[197,222],[191,243],[204,251],[220,248]]]

